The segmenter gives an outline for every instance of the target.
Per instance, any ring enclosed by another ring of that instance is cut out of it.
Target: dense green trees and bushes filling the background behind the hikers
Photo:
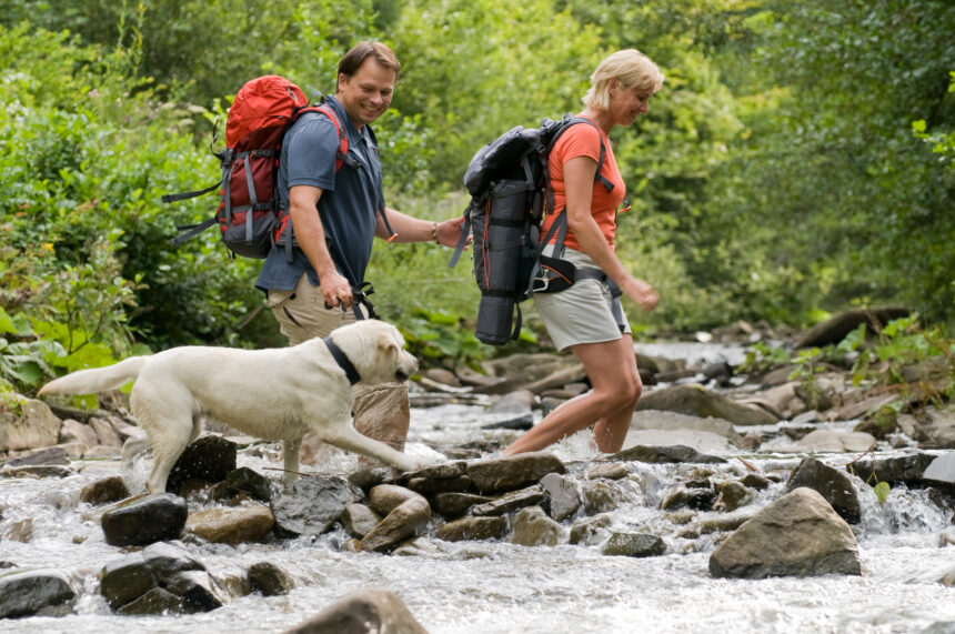
[[[626,302],[635,331],[805,324],[894,300],[939,325],[860,330],[795,359],[757,346],[747,364],[794,362],[807,381],[854,364],[857,382],[887,384],[931,364],[949,376],[933,380],[934,397],[952,395],[946,0],[9,0],[0,26],[4,386],[138,344],[283,344],[257,262],[229,260],[213,231],[169,244],[214,197],[159,198],[218,179],[209,127],[244,81],[279,73],[330,92],[341,54],[383,39],[403,64],[376,124],[392,207],[460,214],[475,150],[580,110],[596,63],[635,47],[666,74],[650,113],[612,138],[633,204],[616,251],[661,293],[650,314]],[[466,258],[455,270],[449,258],[433,244],[374,249],[372,299],[420,354],[470,364],[534,345],[526,304],[522,342],[475,346],[480,295]]]

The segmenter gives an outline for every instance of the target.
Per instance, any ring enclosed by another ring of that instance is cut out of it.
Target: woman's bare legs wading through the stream
[[[581,343],[571,351],[583,363],[593,390],[551,412],[527,433],[505,447],[504,455],[540,451],[583,429],[594,425],[597,449],[620,451],[640,401],[643,383],[636,370],[633,338]]]

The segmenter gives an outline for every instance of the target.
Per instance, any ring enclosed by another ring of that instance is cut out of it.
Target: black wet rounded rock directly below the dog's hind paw
[[[142,546],[179,537],[188,514],[185,500],[164,493],[122,502],[103,513],[101,524],[108,544]]]

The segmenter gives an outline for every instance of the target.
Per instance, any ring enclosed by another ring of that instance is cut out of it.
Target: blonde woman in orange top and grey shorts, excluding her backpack
[[[650,284],[633,276],[614,254],[616,210],[626,193],[607,134],[615,125],[630,125],[647,111],[647,101],[663,85],[663,74],[650,58],[634,49],[603,60],[591,76],[580,117],[596,124],[569,128],[550,154],[554,210],[564,209],[567,235],[564,254],[579,269],[600,269],[620,290],[650,311],[660,299]],[[601,143],[605,157],[597,177]],[[556,214],[545,220],[546,234]],[[544,253],[554,249],[545,248]],[[502,451],[512,455],[539,451],[590,425],[602,452],[623,446],[643,384],[636,370],[633,336],[622,311],[613,310],[607,284],[597,279],[579,280],[570,289],[537,293],[534,302],[559,350],[571,350],[583,364],[593,390],[551,412],[540,424]],[[616,315],[616,316],[615,316]]]

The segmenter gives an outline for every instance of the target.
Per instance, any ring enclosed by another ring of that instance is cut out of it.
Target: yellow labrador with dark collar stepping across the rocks
[[[250,435],[284,441],[286,483],[295,480],[291,472],[299,471],[299,446],[308,432],[414,471],[421,465],[410,456],[355,431],[351,384],[405,381],[416,370],[396,328],[362,320],[292,348],[183,346],[132,356],[51,381],[40,394],[91,394],[135,380],[132,413],[153,452],[147,489],[163,493],[169,472],[202,433],[207,415]]]

